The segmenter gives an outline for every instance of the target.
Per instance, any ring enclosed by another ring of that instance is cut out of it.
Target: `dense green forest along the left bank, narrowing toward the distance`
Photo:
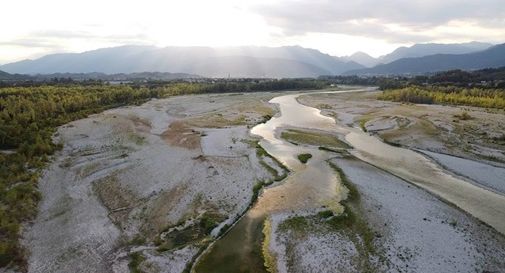
[[[22,266],[18,244],[23,222],[37,213],[37,181],[50,156],[60,125],[89,114],[151,98],[214,92],[323,88],[317,80],[153,82],[133,85],[74,84],[0,88],[0,267]]]

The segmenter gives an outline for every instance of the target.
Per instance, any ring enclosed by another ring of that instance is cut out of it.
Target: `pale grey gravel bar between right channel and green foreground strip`
[[[366,163],[333,161],[357,185],[390,272],[504,272],[505,238],[494,229]]]

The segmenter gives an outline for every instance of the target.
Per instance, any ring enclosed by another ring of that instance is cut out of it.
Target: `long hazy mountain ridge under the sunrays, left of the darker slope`
[[[0,66],[8,73],[177,72],[204,77],[316,77],[363,68],[314,49],[121,46],[47,55]]]

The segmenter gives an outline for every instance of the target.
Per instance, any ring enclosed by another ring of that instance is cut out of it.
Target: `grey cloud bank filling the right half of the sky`
[[[471,22],[474,29],[495,30],[490,38],[505,39],[503,0],[283,0],[253,9],[286,36],[338,33],[394,43],[426,42],[444,38],[437,32],[441,27]],[[471,34],[443,33],[454,39],[471,39]]]

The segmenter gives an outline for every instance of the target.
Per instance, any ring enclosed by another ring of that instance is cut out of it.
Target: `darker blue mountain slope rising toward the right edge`
[[[436,54],[403,58],[373,68],[348,71],[346,75],[424,74],[453,69],[476,70],[505,66],[505,44],[468,54]]]

